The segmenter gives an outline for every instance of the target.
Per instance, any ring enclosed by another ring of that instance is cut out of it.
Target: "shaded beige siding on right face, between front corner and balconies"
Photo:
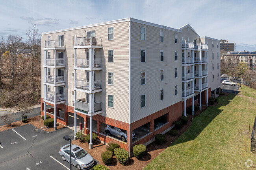
[[[146,28],[145,40],[141,40],[141,27]],[[160,42],[160,30],[164,31],[164,42]],[[181,51],[181,33],[135,22],[131,23],[131,32],[131,122],[135,122],[181,101],[180,52],[175,61],[175,51]],[[178,44],[175,44],[175,33],[178,34]],[[141,49],[146,51],[145,62],[141,62]],[[164,50],[163,61],[160,61],[160,50]],[[176,79],[174,68],[178,68]],[[161,69],[164,69],[164,80],[160,82]],[[146,84],[141,86],[143,71]],[[175,85],[178,85],[176,96]],[[163,101],[160,101],[160,89],[164,89]],[[146,94],[144,108],[141,108],[142,94]]]

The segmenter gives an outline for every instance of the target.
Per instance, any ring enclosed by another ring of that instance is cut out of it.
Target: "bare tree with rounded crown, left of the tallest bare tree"
[[[18,65],[18,57],[17,49],[20,46],[22,38],[18,35],[9,35],[6,40],[6,49],[10,52],[10,62],[11,62],[11,77],[10,77],[10,88],[14,87],[14,78],[15,78],[15,69]]]

